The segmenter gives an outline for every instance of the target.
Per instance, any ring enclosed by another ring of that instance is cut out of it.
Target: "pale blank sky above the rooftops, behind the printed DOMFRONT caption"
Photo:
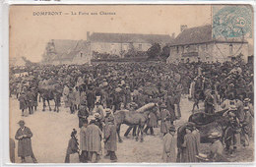
[[[62,14],[34,16],[40,12]],[[87,31],[177,35],[181,25],[212,22],[210,5],[27,5],[11,6],[9,15],[10,57],[24,56],[32,62],[41,60],[50,39],[86,40]]]

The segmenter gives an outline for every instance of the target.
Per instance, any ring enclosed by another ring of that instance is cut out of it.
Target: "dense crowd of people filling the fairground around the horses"
[[[243,131],[245,145],[248,145],[252,137],[253,65],[243,62],[14,67],[10,70],[10,96],[13,95],[20,102],[22,116],[32,115],[37,109],[38,101],[43,98],[53,99],[55,106],[60,106],[63,101],[64,107],[68,107],[71,114],[78,112],[80,144],[77,131],[73,130],[65,162],[70,161],[71,154],[78,152],[81,152],[79,156],[82,162],[98,161],[101,140],[106,150],[105,157],[109,156],[110,160],[116,161],[114,113],[121,109],[135,111],[151,102],[158,104],[160,115],[156,110],[150,112],[144,133],[147,134],[150,130],[151,135],[155,135],[154,128],[158,127],[160,121],[163,161],[176,162],[178,155],[176,156],[173,140],[174,121],[182,117],[181,97],[194,101],[192,112],[196,112],[196,107],[199,108],[200,100],[204,101],[204,111],[208,114],[218,112],[217,106],[220,105],[227,109],[225,114],[235,122],[231,124],[233,129],[239,127]],[[58,109],[56,111],[59,112]],[[235,125],[236,123],[238,124]],[[136,126],[130,126],[125,137],[128,137],[132,129],[133,136],[136,135]],[[181,152],[181,162],[197,162],[200,137],[198,138],[196,131],[196,128],[186,129],[182,144],[186,151]],[[237,134],[241,133],[233,131],[234,136]],[[211,138],[213,144],[220,144],[220,134],[212,134]],[[234,147],[238,138],[241,139],[241,136],[233,140]],[[218,151],[220,150],[214,153]]]

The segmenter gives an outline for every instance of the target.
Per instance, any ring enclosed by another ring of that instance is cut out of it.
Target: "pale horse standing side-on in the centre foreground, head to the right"
[[[139,140],[139,134],[141,133],[141,142],[143,139],[143,130],[144,126],[147,124],[147,120],[149,118],[149,114],[152,109],[158,107],[157,103],[150,103],[149,107],[141,107],[137,111],[129,111],[129,110],[118,110],[114,113],[115,124],[116,124],[116,132],[119,142],[122,142],[120,137],[120,128],[122,124],[126,124],[128,126],[138,126],[138,131],[136,134],[136,141]],[[159,115],[159,110],[156,111]]]

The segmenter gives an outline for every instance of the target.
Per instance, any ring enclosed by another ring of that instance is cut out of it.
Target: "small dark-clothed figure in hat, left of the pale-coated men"
[[[77,131],[75,129],[73,129],[73,132],[71,133],[71,139],[69,139],[65,163],[70,163],[70,154],[74,154],[74,153],[79,154],[78,145],[79,145],[79,143],[78,143],[78,139],[77,139]]]

